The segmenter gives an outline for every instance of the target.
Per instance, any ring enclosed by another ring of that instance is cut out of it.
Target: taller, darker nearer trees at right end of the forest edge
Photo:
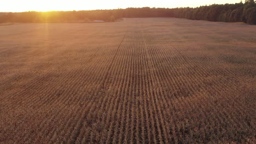
[[[207,20],[222,22],[245,22],[256,25],[256,4],[254,0],[245,3],[212,4],[198,8],[173,9],[174,17],[191,20]]]

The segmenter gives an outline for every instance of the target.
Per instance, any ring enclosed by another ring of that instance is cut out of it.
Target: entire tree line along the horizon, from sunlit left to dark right
[[[90,22],[91,20],[115,21],[122,17],[177,17],[191,20],[245,22],[256,25],[254,0],[245,3],[212,4],[197,8],[126,8],[113,10],[81,11],[26,11],[0,13],[1,22]]]

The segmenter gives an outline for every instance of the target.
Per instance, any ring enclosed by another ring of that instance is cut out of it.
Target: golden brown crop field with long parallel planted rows
[[[0,26],[0,143],[255,143],[256,26]]]

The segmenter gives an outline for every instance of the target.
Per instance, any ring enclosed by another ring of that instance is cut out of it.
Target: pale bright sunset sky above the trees
[[[118,8],[177,8],[200,5],[239,3],[241,0],[2,0],[1,12],[94,10]],[[244,1],[244,0],[243,0]]]

